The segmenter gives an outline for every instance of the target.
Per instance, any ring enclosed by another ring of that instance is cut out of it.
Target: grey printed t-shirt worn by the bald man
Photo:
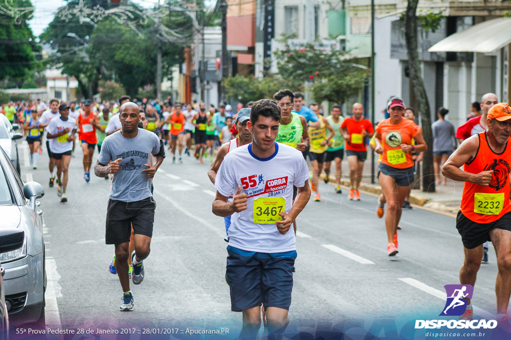
[[[108,164],[119,162],[119,172],[113,176],[110,199],[122,202],[136,202],[151,197],[151,178],[142,172],[150,164],[150,154],[159,152],[158,136],[139,128],[135,138],[125,138],[120,131],[106,137],[101,146],[98,162]]]

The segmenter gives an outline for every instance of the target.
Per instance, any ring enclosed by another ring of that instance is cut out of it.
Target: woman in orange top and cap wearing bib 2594
[[[428,149],[422,137],[422,129],[412,120],[403,118],[405,103],[392,97],[387,103],[390,118],[376,126],[375,152],[382,155],[378,166],[378,179],[388,202],[385,226],[387,228],[387,252],[389,256],[398,253],[398,224],[401,207],[413,182],[413,152]],[[412,145],[412,139],[415,145]]]

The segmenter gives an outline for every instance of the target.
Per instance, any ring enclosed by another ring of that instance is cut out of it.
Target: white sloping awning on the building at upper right
[[[492,53],[511,43],[511,18],[498,18],[473,25],[440,40],[428,52]]]

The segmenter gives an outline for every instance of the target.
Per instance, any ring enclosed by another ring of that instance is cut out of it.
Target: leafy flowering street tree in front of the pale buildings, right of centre
[[[346,52],[335,48],[324,51],[310,43],[291,49],[287,39],[282,42],[284,48],[275,52],[278,73],[295,87],[313,82],[314,100],[343,103],[364,88],[368,71],[346,58]]]

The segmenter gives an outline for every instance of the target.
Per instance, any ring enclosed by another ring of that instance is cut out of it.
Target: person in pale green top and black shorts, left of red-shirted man
[[[335,161],[335,184],[337,188],[335,192],[341,194],[341,175],[342,168],[341,162],[344,159],[344,137],[340,132],[340,127],[344,117],[341,116],[342,110],[338,105],[334,105],[330,111],[330,116],[327,117],[327,121],[334,129],[334,137],[330,138],[328,142],[327,154],[324,159],[324,182],[328,183],[330,179],[330,165],[332,161]]]

